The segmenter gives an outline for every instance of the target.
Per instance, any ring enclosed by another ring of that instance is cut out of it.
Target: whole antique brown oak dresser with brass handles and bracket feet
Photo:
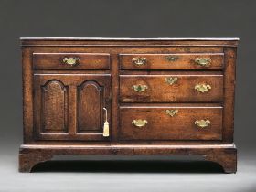
[[[19,171],[53,155],[203,155],[234,173],[237,38],[21,38]]]

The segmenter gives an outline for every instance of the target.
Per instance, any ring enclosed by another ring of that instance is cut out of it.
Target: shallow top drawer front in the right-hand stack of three
[[[121,54],[121,69],[223,69],[223,53]]]

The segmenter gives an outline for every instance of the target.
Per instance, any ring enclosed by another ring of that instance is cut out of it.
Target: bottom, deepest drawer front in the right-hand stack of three
[[[221,107],[121,107],[121,140],[221,140]]]

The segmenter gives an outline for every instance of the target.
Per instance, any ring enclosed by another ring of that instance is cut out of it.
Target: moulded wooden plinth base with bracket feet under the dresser
[[[233,144],[22,145],[19,170],[29,172],[37,163],[49,160],[51,155],[203,155],[206,160],[221,165],[225,173],[237,171],[237,149]]]

